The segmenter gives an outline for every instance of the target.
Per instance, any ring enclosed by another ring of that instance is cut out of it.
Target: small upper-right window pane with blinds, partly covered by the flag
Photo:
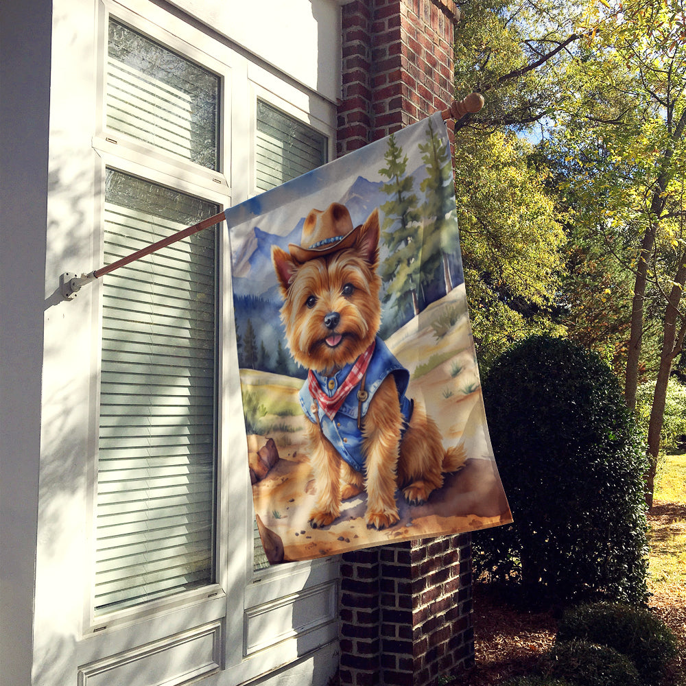
[[[327,137],[257,101],[257,189],[270,188],[327,162]]]

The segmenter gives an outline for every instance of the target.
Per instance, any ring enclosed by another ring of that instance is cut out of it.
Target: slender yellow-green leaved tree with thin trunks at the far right
[[[568,65],[576,102],[559,123],[580,163],[575,190],[598,205],[595,230],[617,255],[626,254],[618,245],[632,246],[625,262],[634,277],[624,383],[629,407],[636,403],[651,298],[663,311],[648,425],[650,504],[667,383],[686,333],[686,12],[683,0],[599,7],[589,22],[595,40]]]

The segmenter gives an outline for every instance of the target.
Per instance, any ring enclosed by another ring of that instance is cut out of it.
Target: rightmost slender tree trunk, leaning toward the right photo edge
[[[652,499],[655,488],[655,473],[657,471],[657,458],[660,452],[660,434],[665,418],[665,401],[667,400],[667,385],[670,382],[672,373],[672,362],[674,357],[681,353],[683,345],[685,324],[682,322],[681,328],[677,331],[678,320],[681,318],[678,306],[681,302],[681,293],[686,281],[686,263],[684,258],[676,272],[672,286],[672,292],[667,299],[667,309],[665,311],[665,324],[662,339],[662,351],[660,353],[660,367],[657,372],[655,382],[655,392],[652,397],[652,407],[650,409],[650,423],[648,424],[648,473],[646,474],[646,504],[652,507]],[[683,318],[682,318],[683,319]]]

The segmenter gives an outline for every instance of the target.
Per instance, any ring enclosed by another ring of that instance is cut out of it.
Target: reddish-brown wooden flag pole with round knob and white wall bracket
[[[483,106],[484,96],[480,93],[470,93],[462,100],[453,100],[447,109],[441,111],[440,115],[444,120],[455,119],[457,121],[458,119],[462,119],[462,117],[468,113],[477,113]],[[141,259],[141,257],[151,255],[153,252],[156,252],[161,248],[166,248],[177,241],[192,236],[194,233],[198,233],[199,231],[209,228],[210,226],[215,226],[215,224],[222,222],[224,218],[224,212],[215,214],[212,217],[202,220],[202,222],[198,222],[198,224],[193,224],[193,226],[183,228],[180,231],[177,231],[176,233],[173,233],[170,236],[151,244],[150,246],[141,248],[141,250],[137,250],[136,252],[132,252],[131,255],[122,257],[116,262],[108,264],[104,267],[100,267],[92,272],[88,272],[88,274],[81,274],[78,276],[78,274],[64,272],[64,274],[60,274],[60,291],[62,292],[62,297],[64,300],[73,300],[78,291],[80,291],[81,287],[86,285],[86,283],[91,283],[91,281],[95,281],[95,279],[99,279],[105,274],[114,272],[116,269],[119,269],[130,262]]]

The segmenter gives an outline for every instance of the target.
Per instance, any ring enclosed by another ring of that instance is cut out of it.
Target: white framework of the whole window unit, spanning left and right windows
[[[328,139],[329,160],[335,150],[336,113],[333,103],[307,91],[275,69],[252,62],[240,49],[216,40],[197,27],[146,0],[99,0],[97,12],[97,126],[92,147],[95,169],[95,237],[93,263],[102,264],[104,178],[106,167],[150,182],[190,193],[224,209],[247,200],[255,188],[257,99],[318,130]],[[125,23],[220,75],[219,171],[157,152],[141,141],[105,126],[104,73],[108,18]],[[246,131],[250,136],[246,137]],[[246,173],[250,170],[250,173]],[[290,663],[338,637],[338,557],[290,563],[253,572],[252,491],[247,469],[247,443],[235,344],[233,302],[230,293],[230,254],[226,225],[219,240],[218,374],[217,398],[217,525],[216,583],[139,606],[95,617],[92,585],[95,562],[95,496],[97,494],[97,436],[99,425],[99,357],[102,336],[102,287],[93,283],[91,410],[88,431],[86,554],[82,630],[77,645],[83,674],[95,674],[98,665],[110,665],[113,656],[132,646],[153,645],[189,628],[216,626],[221,649],[217,671],[222,686],[242,683]],[[107,276],[103,277],[104,279]],[[245,469],[241,469],[245,466]],[[241,477],[242,473],[242,477]],[[243,541],[235,545],[236,523],[243,522]],[[233,537],[233,538],[232,538]],[[312,622],[277,628],[264,641],[255,639],[255,627],[270,617],[287,617],[296,604],[313,602],[319,615]],[[274,613],[271,615],[270,613]],[[152,649],[151,649],[152,650]],[[84,677],[85,678],[85,677]]]

